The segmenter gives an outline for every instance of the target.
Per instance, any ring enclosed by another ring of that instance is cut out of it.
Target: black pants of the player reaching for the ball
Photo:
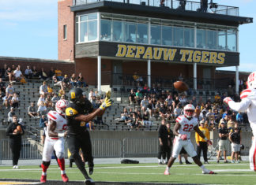
[[[68,135],[67,143],[77,168],[79,168],[81,173],[85,176],[85,179],[88,179],[89,176],[85,170],[85,163],[81,160],[79,150],[81,148],[85,162],[88,161],[88,166],[93,166],[92,143],[89,132],[86,130],[82,135]]]

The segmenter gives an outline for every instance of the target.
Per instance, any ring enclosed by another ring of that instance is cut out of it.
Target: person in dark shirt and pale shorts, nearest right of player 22
[[[224,124],[224,122],[221,122],[220,124],[220,128],[219,128],[219,152],[217,155],[217,163],[220,162],[220,154],[221,151],[223,151],[223,156],[224,156],[224,163],[228,163],[227,161],[227,150],[228,150],[228,128],[226,127],[226,125]]]

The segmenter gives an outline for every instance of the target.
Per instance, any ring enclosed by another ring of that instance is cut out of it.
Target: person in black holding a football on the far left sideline
[[[9,147],[13,156],[13,169],[17,169],[19,168],[17,163],[21,155],[21,135],[24,135],[24,129],[21,124],[18,124],[17,116],[13,116],[13,122],[6,129],[6,135],[9,136]]]

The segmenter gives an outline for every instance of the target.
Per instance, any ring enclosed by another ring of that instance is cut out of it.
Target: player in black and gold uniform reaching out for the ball
[[[85,162],[88,162],[88,172],[93,172],[92,144],[86,123],[96,116],[101,116],[107,107],[111,105],[110,92],[107,92],[104,102],[99,109],[93,109],[92,103],[83,97],[81,88],[73,88],[69,92],[70,104],[66,108],[67,120],[67,143],[71,155],[77,165],[77,168],[85,176],[86,184],[93,184],[93,180],[88,176],[85,170],[85,163],[81,160],[79,149],[81,148]]]

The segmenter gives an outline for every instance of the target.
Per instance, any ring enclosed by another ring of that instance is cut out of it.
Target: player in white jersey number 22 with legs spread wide
[[[196,151],[194,150],[194,146],[190,141],[190,133],[191,131],[198,132],[202,138],[205,139],[210,145],[212,142],[208,140],[205,135],[198,128],[198,118],[193,117],[194,115],[194,105],[187,104],[184,107],[184,115],[177,117],[175,127],[173,128],[173,134],[175,135],[175,139],[173,141],[173,149],[171,158],[168,161],[168,165],[164,171],[164,175],[170,175],[170,168],[173,165],[175,159],[178,157],[180,150],[184,147],[187,154],[193,158],[194,162],[201,168],[203,174],[215,174],[215,172],[210,171],[205,168],[204,165],[201,164],[200,159],[197,156]]]

